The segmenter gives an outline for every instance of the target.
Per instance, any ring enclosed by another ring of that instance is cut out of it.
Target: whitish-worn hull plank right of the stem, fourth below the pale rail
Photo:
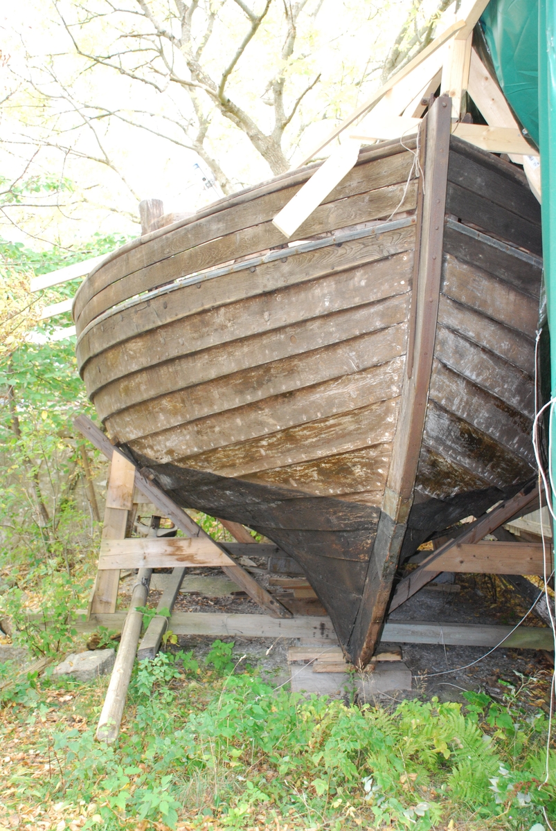
[[[531,376],[442,326],[436,332],[435,356],[451,370],[534,419]]]

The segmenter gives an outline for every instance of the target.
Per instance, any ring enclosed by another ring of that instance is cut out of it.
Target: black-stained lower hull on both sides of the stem
[[[293,557],[326,607],[342,647],[349,651],[367,573],[375,556],[380,509],[178,465],[156,465],[144,457],[135,456],[135,460],[149,468],[183,508],[247,525]],[[488,488],[451,499],[427,499],[414,504],[402,543],[401,561],[432,534],[470,514],[484,513],[499,499],[506,499],[517,490],[519,485],[504,491]]]

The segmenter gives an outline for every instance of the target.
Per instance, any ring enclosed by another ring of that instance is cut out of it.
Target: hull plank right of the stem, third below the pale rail
[[[534,375],[534,345],[529,337],[450,300],[444,294],[440,295],[438,322],[518,366],[528,376]]]

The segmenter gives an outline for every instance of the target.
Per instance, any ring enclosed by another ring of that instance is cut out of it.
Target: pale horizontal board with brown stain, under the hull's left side
[[[231,564],[228,555],[207,538],[146,537],[101,540],[98,568],[222,568]]]

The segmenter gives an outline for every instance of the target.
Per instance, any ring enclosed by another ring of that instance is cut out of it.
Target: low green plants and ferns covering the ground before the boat
[[[488,696],[468,696],[466,708],[433,699],[392,709],[303,698],[274,691],[256,671],[238,673],[238,665],[229,674],[231,647],[214,642],[209,671],[193,652],[142,662],[117,747],[96,742],[101,699],[96,682],[81,686],[93,724],[57,730],[59,775],[53,769],[40,783],[40,798],[94,803],[93,826],[107,831],[130,831],[142,819],[199,829],[209,819],[239,831],[273,827],[273,818],[300,831],[428,831],[450,819],[476,831],[529,831],[543,823],[543,809],[554,817],[556,755],[543,784],[543,715],[514,711],[510,731],[490,724]],[[30,706],[42,712],[44,686],[23,680],[12,691],[27,720]],[[17,787],[29,788],[31,779],[18,776]]]

